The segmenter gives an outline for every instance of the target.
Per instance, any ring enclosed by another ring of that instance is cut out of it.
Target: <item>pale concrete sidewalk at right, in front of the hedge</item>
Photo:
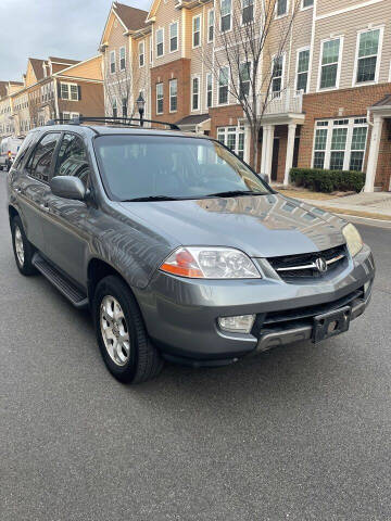
[[[282,194],[304,201],[307,204],[319,206],[330,212],[355,215],[358,217],[367,217],[373,219],[391,220],[391,192],[375,192],[375,193],[356,193],[354,195],[346,195],[342,198],[331,199],[311,199],[308,196],[294,195],[294,190],[281,190]]]

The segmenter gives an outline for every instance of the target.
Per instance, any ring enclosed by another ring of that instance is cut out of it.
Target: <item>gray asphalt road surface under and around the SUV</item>
[[[87,313],[16,270],[0,171],[0,520],[391,520],[391,229],[341,336],[237,365],[103,366]]]

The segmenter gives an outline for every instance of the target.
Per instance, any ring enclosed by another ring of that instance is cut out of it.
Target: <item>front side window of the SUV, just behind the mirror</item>
[[[87,188],[89,163],[81,138],[75,134],[65,134],[55,165],[55,176],[76,176]]]

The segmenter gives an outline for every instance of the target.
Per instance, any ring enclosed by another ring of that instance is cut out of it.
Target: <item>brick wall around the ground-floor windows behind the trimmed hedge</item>
[[[299,167],[311,166],[316,119],[366,116],[367,109],[389,93],[391,93],[391,84],[305,94],[303,99],[305,123],[302,127],[300,138]],[[368,134],[364,169],[366,168],[367,164],[369,143],[370,128]],[[391,174],[389,166],[390,162],[387,163],[386,160],[386,155],[391,153],[389,150],[390,148],[391,143],[388,141],[388,136],[386,136],[383,130],[380,145],[380,161],[375,180],[376,185],[386,185]],[[381,156],[381,154],[383,155]]]

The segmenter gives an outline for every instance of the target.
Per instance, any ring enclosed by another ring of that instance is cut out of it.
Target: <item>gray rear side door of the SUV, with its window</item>
[[[42,231],[48,218],[45,199],[50,192],[50,173],[60,136],[61,132],[43,135],[13,183],[27,238],[43,254],[48,252]]]

